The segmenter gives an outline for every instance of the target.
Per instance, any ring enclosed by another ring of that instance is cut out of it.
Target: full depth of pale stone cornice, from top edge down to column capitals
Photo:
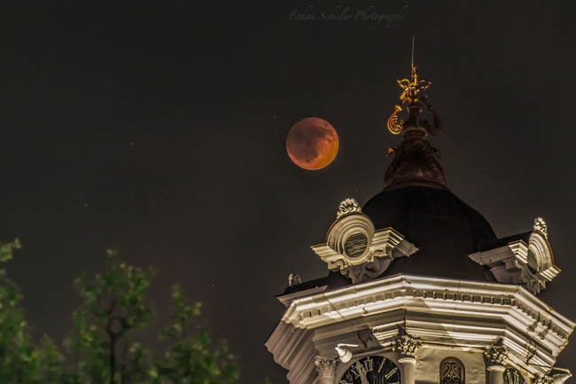
[[[490,348],[502,339],[511,364],[522,364],[534,350],[530,364],[541,365],[554,364],[574,327],[522,286],[411,275],[296,299],[283,322],[295,329],[322,328],[315,331],[322,350],[328,347],[321,347],[322,340],[331,344],[342,329],[369,327],[383,345],[404,326],[424,343]]]

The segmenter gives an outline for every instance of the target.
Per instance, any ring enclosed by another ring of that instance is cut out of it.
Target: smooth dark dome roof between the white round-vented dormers
[[[376,229],[392,227],[419,250],[396,259],[384,276],[398,273],[494,281],[468,255],[496,239],[479,212],[440,184],[390,185],[362,208]]]

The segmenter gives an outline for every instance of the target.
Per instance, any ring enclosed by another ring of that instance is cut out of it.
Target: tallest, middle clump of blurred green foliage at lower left
[[[150,355],[137,344],[128,347],[128,334],[152,323],[153,311],[144,304],[144,294],[153,271],[121,263],[114,250],[108,256],[110,268],[104,275],[75,281],[83,303],[74,312],[66,349],[74,356],[74,380],[82,383],[144,380],[144,359]]]

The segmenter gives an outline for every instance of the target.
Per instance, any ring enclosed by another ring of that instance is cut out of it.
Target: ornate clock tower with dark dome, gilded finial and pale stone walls
[[[442,129],[430,82],[416,67],[398,82],[387,125],[404,139],[385,188],[363,208],[340,204],[312,247],[328,276],[278,297],[286,312],[266,346],[291,384],[564,383],[554,364],[575,324],[537,298],[560,271],[546,223],[498,239],[446,186],[426,138]]]

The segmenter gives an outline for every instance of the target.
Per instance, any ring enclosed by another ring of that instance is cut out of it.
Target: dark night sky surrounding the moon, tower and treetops
[[[308,5],[405,19],[289,20]],[[263,346],[284,311],[275,295],[290,273],[324,276],[309,246],[341,200],[382,188],[412,35],[448,186],[499,237],[547,221],[563,271],[539,297],[576,320],[574,14],[527,0],[1,2],[0,239],[23,244],[8,270],[35,334],[66,336],[74,278],[117,247],[159,271],[159,321],[181,284],[243,384],[286,382]],[[321,171],[284,150],[307,116],[339,133]],[[575,355],[572,342],[558,366],[576,371]]]

